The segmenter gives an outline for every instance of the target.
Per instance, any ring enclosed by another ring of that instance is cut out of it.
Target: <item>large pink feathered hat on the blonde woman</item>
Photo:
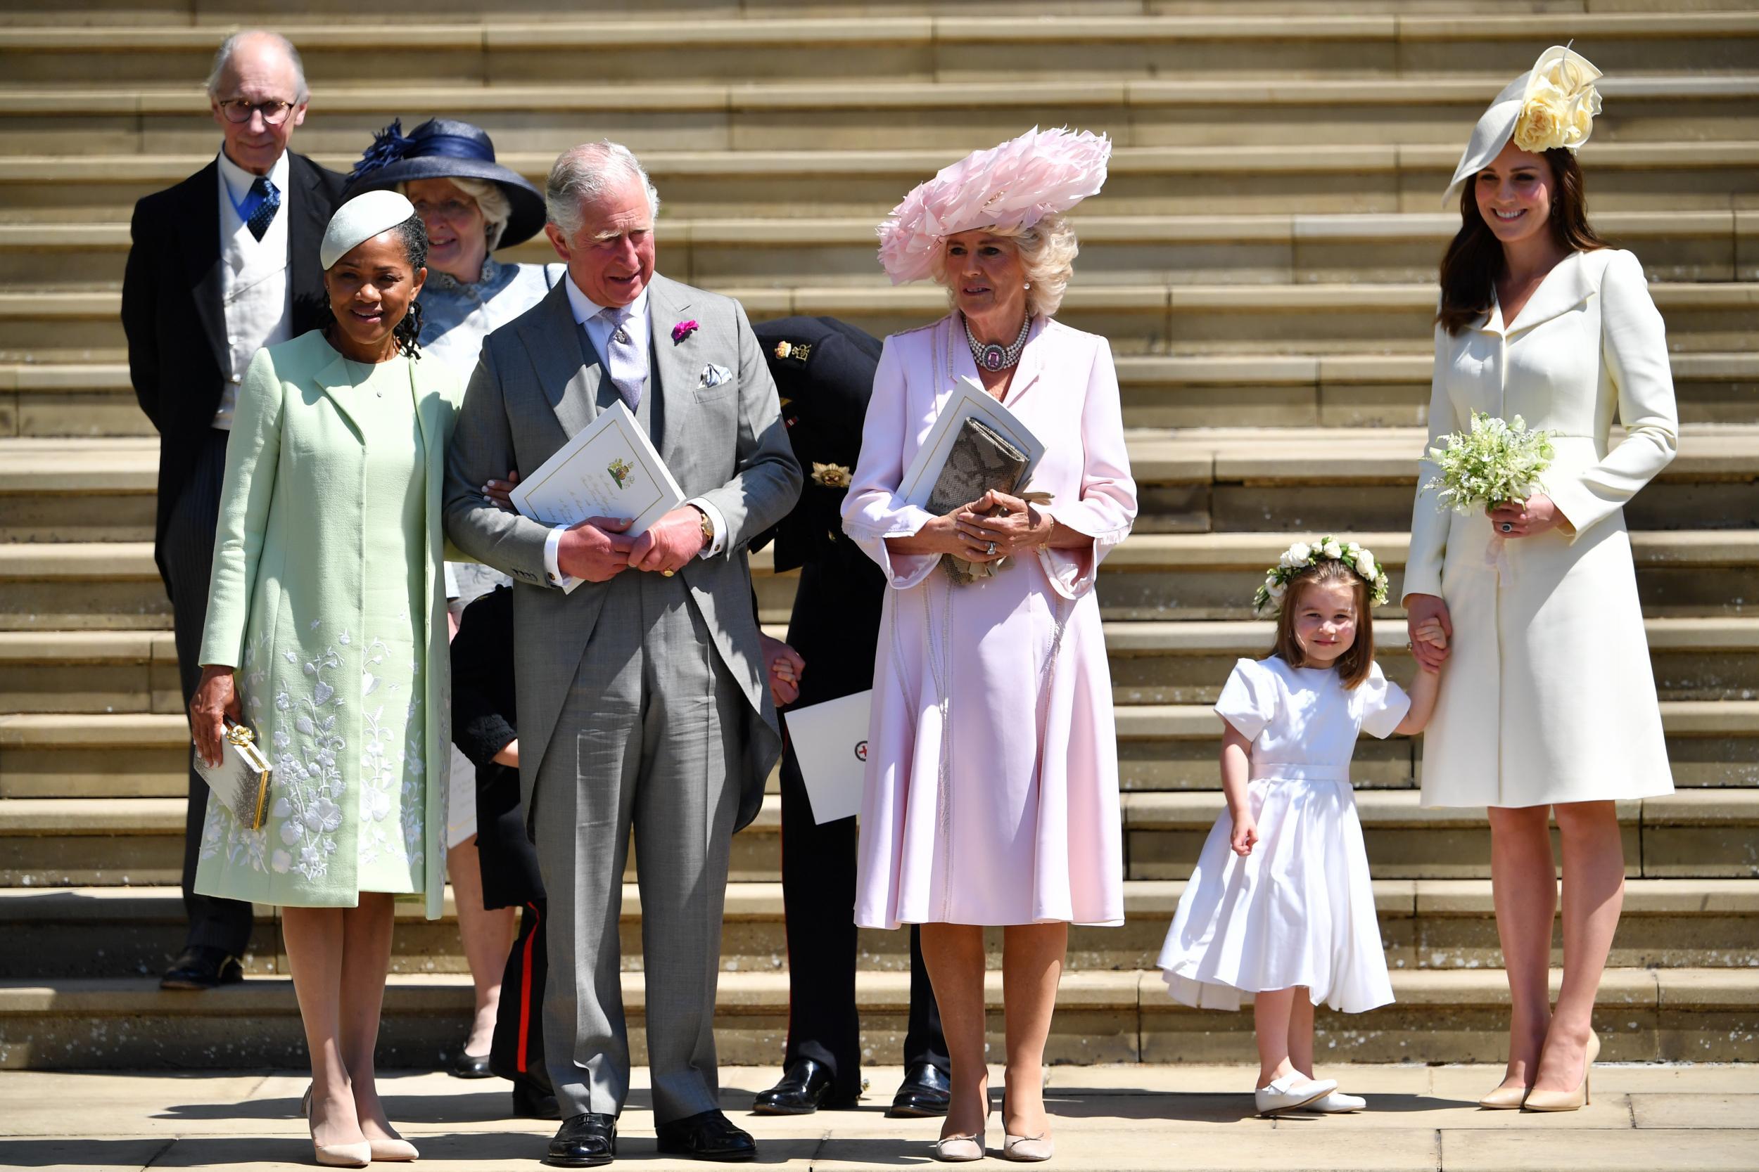
[[[971,228],[1031,228],[1105,186],[1112,142],[1091,130],[1033,127],[987,151],[943,167],[904,197],[880,225],[880,264],[892,285],[932,274],[941,241]]]

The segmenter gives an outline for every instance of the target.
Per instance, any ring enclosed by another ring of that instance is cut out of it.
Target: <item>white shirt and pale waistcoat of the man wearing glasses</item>
[[[274,160],[267,179],[280,193],[280,207],[259,241],[245,223],[245,209],[257,200],[252,186],[257,176],[220,151],[220,304],[225,315],[227,371],[220,392],[220,409],[213,425],[232,429],[237,387],[257,351],[292,337],[292,285],[287,279],[287,223],[294,193],[288,190],[292,163],[287,151]]]

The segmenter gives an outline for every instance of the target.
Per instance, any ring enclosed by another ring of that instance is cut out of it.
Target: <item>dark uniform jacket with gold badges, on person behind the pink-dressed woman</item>
[[[800,569],[788,645],[806,661],[793,705],[804,708],[864,692],[874,680],[885,575],[843,534],[843,497],[862,450],[880,341],[836,318],[779,318],[751,329],[804,473],[793,511],[751,541],[751,548],[774,543],[777,571]],[[783,344],[786,357],[777,353]]]

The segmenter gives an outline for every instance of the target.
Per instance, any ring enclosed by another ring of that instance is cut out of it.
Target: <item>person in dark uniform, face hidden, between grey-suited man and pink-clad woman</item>
[[[843,536],[843,494],[862,446],[880,341],[836,318],[753,323],[781,394],[806,485],[799,504],[751,545],[774,543],[776,569],[800,569],[788,641],[763,640],[770,694],[783,712],[872,687],[885,578]],[[788,926],[788,1049],[783,1079],[756,1096],[758,1114],[853,1107],[862,1093],[855,1012],[855,819],[820,826],[788,742],[781,761],[781,887]],[[934,989],[909,935],[909,1028],[904,1082],[892,1114],[943,1116],[946,1040]]]

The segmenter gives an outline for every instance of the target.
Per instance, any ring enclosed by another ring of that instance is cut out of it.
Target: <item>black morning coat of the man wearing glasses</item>
[[[290,337],[317,329],[324,311],[318,244],[341,202],[343,177],[303,155],[288,155],[292,220],[287,225]],[[183,481],[201,452],[225,390],[227,334],[222,309],[220,163],[153,192],[134,206],[128,267],[121,283],[121,325],[128,336],[128,378],[146,418],[158,429],[158,545],[165,538]],[[165,589],[171,578],[165,576]]]

